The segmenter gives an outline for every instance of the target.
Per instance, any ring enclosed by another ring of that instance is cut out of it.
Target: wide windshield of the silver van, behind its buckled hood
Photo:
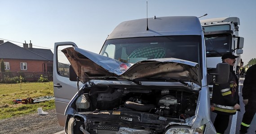
[[[201,36],[162,36],[106,40],[100,54],[128,63],[177,58],[201,63]]]

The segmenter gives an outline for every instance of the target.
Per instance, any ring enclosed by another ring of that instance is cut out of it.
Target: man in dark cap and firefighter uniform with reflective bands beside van
[[[228,52],[223,54],[222,63],[230,65],[229,81],[225,84],[214,84],[212,93],[212,112],[217,113],[213,123],[217,134],[224,134],[229,126],[230,115],[236,114],[240,109],[238,95],[238,77],[233,71],[234,63],[238,56]]]

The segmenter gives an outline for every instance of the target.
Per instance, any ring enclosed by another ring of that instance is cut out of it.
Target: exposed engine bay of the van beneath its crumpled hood
[[[78,112],[131,110],[185,119],[195,113],[198,92],[185,89],[110,88],[86,89],[76,100]]]

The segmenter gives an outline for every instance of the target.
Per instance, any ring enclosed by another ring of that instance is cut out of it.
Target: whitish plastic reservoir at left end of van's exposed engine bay
[[[90,100],[88,94],[82,94],[75,101],[77,109],[88,109],[90,107]]]

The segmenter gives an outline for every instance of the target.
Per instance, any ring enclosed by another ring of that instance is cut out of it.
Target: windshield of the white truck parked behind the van
[[[221,57],[222,54],[230,52],[231,50],[231,34],[204,35],[204,40],[206,57]]]

